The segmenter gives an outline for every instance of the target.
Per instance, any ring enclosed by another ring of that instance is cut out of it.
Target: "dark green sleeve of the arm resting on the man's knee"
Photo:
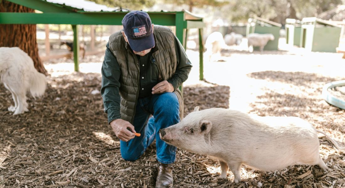
[[[184,81],[187,80],[190,69],[192,68],[192,64],[190,63],[182,44],[176,36],[174,42],[177,67],[175,74],[168,80],[168,82],[171,83],[171,85],[174,86],[176,90]]]

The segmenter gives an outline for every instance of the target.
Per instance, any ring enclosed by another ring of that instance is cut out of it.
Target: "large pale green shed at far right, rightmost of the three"
[[[299,47],[310,51],[336,52],[341,27],[316,17],[303,18]]]

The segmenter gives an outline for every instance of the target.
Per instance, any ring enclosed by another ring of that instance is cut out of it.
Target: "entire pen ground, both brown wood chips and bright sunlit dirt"
[[[205,62],[198,81],[198,53],[184,83],[185,114],[200,109],[231,108],[259,116],[297,116],[345,143],[345,110],[326,103],[322,87],[344,80],[345,60],[337,53],[298,49],[248,53],[240,47]],[[73,72],[70,59],[45,62],[50,73],[46,94],[28,95],[29,112],[12,116],[13,101],[0,86],[0,187],[154,187],[156,148],[137,161],[124,161],[119,139],[107,124],[101,95],[102,55],[89,56]],[[320,155],[329,167],[296,165],[274,172],[243,166],[242,183],[217,179],[220,166],[208,156],[177,150],[172,187],[342,188],[345,151],[320,136]],[[263,154],[270,155],[270,154]]]

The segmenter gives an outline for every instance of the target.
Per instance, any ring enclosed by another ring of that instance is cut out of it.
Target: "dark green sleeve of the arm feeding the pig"
[[[102,64],[102,87],[101,94],[103,98],[104,111],[108,113],[108,123],[112,120],[121,118],[120,114],[120,66],[114,53],[109,49],[109,42]]]

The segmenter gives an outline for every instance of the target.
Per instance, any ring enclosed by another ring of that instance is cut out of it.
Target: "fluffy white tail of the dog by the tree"
[[[46,90],[46,76],[36,69],[30,74],[30,93],[33,98],[41,97]]]

